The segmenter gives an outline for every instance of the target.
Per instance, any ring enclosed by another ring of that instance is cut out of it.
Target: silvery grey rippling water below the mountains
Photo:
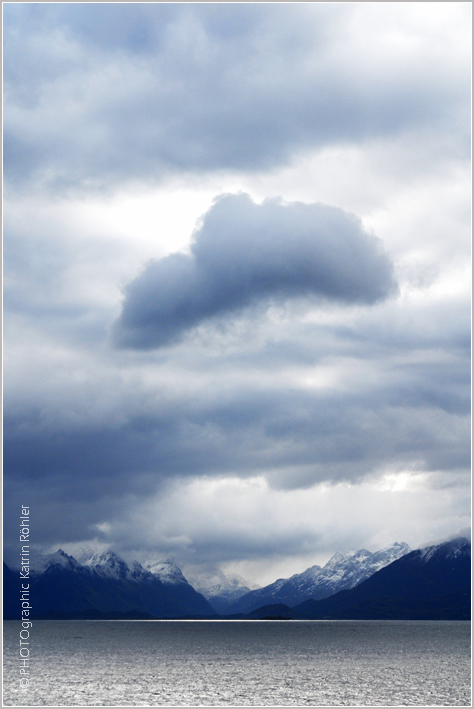
[[[470,706],[470,623],[4,623],[4,706]]]

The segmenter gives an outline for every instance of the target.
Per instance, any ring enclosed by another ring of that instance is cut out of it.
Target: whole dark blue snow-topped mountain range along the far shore
[[[30,617],[466,619],[470,560],[465,538],[415,551],[395,543],[338,552],[323,568],[250,590],[220,570],[194,576],[194,588],[169,559],[129,565],[112,551],[77,560],[60,549],[30,568]],[[19,617],[19,584],[4,564],[5,619]]]

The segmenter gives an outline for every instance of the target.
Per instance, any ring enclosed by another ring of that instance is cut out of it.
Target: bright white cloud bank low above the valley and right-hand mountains
[[[188,480],[125,512],[114,525],[114,538],[123,549],[147,546],[153,553],[159,547],[191,564],[201,557],[201,549],[218,564],[251,559],[258,567],[268,558],[288,563],[294,557],[299,563],[296,573],[317,563],[318,552],[327,560],[334,548],[375,550],[394,539],[410,545],[425,541],[436,530],[440,514],[443,533],[468,522],[468,500],[461,502],[467,481],[441,498],[430,477],[400,472],[381,477],[375,485],[366,480],[291,491],[272,489],[261,477]],[[430,520],[429,532],[421,510]],[[138,536],[141,520],[148,521],[146,540]],[[184,537],[181,548],[175,542],[179,535]]]

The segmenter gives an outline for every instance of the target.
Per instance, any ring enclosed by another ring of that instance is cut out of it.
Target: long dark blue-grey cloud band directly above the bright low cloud
[[[380,466],[405,469],[414,461],[415,470],[442,469],[445,478],[469,466],[468,402],[459,414],[436,408],[422,390],[418,401],[413,392],[403,400],[396,386],[346,396],[254,388],[221,398],[210,392],[115,429],[105,421],[68,429],[41,416],[8,418],[10,504],[25,504],[26,496],[33,509],[49,510],[36,520],[43,543],[80,541],[97,536],[94,524],[119,520],[127,506],[186,477],[262,471],[272,487],[294,490],[356,482]]]

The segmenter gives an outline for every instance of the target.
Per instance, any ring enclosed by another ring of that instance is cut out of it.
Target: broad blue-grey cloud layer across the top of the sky
[[[469,71],[429,35],[407,61],[383,13],[377,35],[389,39],[378,46],[370,28],[351,27],[357,11],[7,4],[8,184],[96,189],[261,170],[302,149],[428,126],[462,143]]]

